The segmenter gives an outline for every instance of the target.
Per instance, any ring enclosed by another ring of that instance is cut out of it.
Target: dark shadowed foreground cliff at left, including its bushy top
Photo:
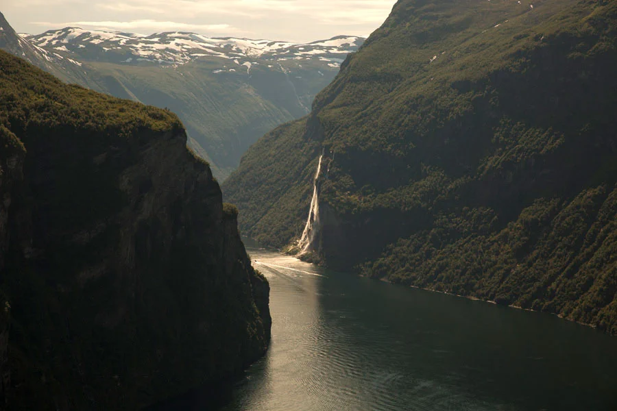
[[[174,114],[0,52],[0,138],[8,408],[136,409],[263,355],[269,286]]]

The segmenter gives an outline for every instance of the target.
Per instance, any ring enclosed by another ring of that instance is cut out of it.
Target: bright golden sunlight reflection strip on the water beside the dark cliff
[[[246,395],[223,410],[294,410],[298,409],[295,401],[299,397],[306,401],[303,406],[311,409],[311,399],[319,396],[315,376],[324,378],[326,374],[326,353],[313,349],[323,346],[324,315],[319,304],[322,277],[310,275],[316,273],[311,270],[313,267],[295,258],[261,256],[255,252],[251,256],[271,286],[276,284],[280,290],[271,292],[270,304],[282,310],[272,312],[277,326],[272,328],[272,343],[265,361],[250,371],[249,378],[256,379],[256,384],[247,384]]]

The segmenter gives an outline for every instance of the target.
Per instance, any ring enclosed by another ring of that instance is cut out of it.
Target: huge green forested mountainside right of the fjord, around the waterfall
[[[617,334],[616,66],[614,1],[400,0],[223,193],[293,249],[323,151],[316,260]]]

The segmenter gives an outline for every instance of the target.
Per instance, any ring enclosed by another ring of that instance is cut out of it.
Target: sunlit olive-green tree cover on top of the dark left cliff
[[[72,127],[105,131],[112,139],[131,138],[140,128],[175,131],[182,127],[169,111],[66,86],[4,51],[0,57],[0,120],[14,133],[25,133],[29,127]]]

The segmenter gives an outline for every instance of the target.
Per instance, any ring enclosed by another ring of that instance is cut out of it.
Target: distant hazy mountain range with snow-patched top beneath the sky
[[[0,14],[0,49],[65,82],[176,112],[189,145],[224,179],[277,125],[309,113],[313,98],[364,39],[307,44],[143,34],[77,27],[17,34]]]

